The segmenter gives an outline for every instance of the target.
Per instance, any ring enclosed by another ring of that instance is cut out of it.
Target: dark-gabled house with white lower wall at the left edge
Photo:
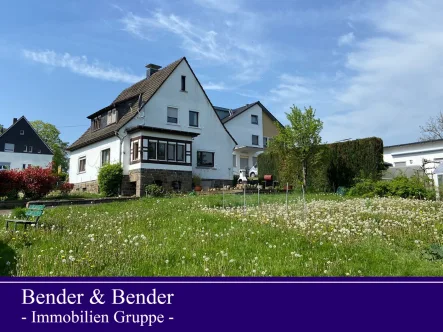
[[[0,170],[46,167],[53,153],[24,116],[0,132]]]

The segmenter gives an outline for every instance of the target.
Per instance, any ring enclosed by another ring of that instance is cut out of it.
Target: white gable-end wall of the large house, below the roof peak
[[[186,76],[185,92],[180,91],[181,76]],[[168,107],[178,109],[177,124],[167,122]],[[197,128],[189,126],[189,111],[199,114]],[[138,120],[133,122],[138,125],[198,133],[199,136],[193,139],[192,144],[193,173],[208,180],[232,179],[232,151],[235,143],[185,61],[180,63],[145,105],[140,117],[134,120]],[[197,151],[214,152],[214,167],[197,166]]]

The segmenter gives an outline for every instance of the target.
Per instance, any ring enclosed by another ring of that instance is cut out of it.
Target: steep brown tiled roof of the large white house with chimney
[[[94,118],[95,116],[99,115],[100,113],[103,113],[107,110],[113,109],[116,105],[124,103],[124,102],[132,102],[132,105],[129,106],[130,110],[127,112],[124,116],[122,116],[116,123],[113,123],[111,125],[106,126],[103,129],[98,129],[95,131],[92,131],[91,128],[88,128],[82,136],[80,136],[79,139],[77,139],[74,143],[72,143],[67,150],[73,151],[79,148],[82,148],[84,146],[87,146],[91,143],[99,142],[105,138],[109,138],[112,136],[115,136],[115,133],[123,128],[129,121],[131,121],[137,114],[138,111],[143,108],[143,106],[154,96],[154,94],[160,89],[160,87],[163,85],[163,83],[168,79],[168,77],[172,74],[172,72],[178,67],[178,65],[182,62],[186,61],[186,63],[189,66],[188,61],[185,57],[182,57],[173,63],[167,65],[163,69],[158,70],[154,74],[152,74],[150,77],[144,78],[141,81],[131,85],[129,88],[123,90],[117,98],[114,99],[114,101],[106,106],[105,108],[102,108],[101,110],[91,114],[88,116],[89,119]],[[189,66],[191,69],[191,72],[193,73],[195,79],[200,84],[200,82],[197,79],[197,76],[195,76],[191,66]],[[201,87],[201,84],[200,84]],[[202,90],[206,95],[205,90],[202,87]],[[211,101],[209,100],[211,103]],[[211,104],[212,105],[212,104]],[[232,137],[232,135],[229,133],[229,131],[226,129],[224,124],[221,122],[226,132],[229,134],[231,139],[237,144],[235,139]]]

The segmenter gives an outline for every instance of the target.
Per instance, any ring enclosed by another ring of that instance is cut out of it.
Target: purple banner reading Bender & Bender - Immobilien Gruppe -
[[[425,331],[436,278],[25,278],[0,281],[2,331]]]

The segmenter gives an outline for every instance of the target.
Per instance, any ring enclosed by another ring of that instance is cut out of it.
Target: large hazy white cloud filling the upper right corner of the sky
[[[352,76],[324,119],[328,136],[379,136],[395,144],[418,139],[419,125],[443,108],[441,1],[389,1],[358,19],[376,34],[355,45]]]

